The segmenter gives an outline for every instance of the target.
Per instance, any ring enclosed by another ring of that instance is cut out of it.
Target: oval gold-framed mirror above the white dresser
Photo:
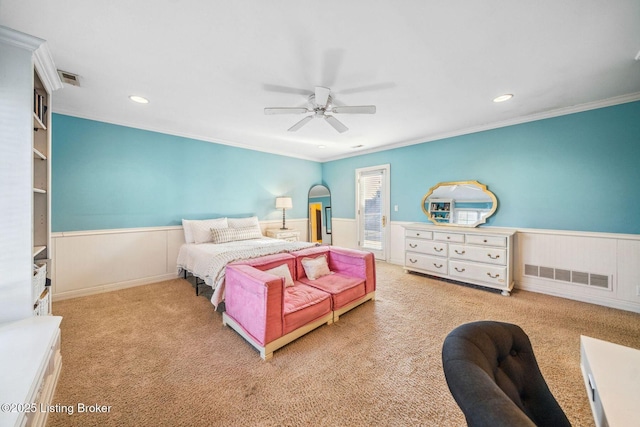
[[[440,182],[422,199],[422,211],[437,225],[477,227],[498,209],[498,199],[478,181]]]

